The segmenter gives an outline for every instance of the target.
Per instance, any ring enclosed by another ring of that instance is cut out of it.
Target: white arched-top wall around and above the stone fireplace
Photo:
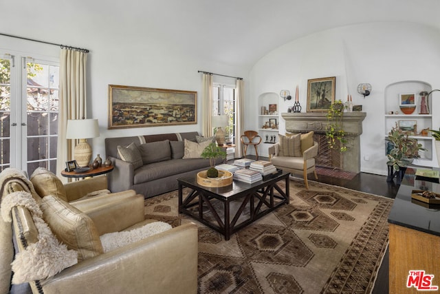
[[[294,93],[299,86],[303,112],[307,109],[307,80],[336,76],[336,99],[362,105],[366,112],[361,136],[361,171],[386,174],[384,149],[384,90],[398,81],[423,81],[440,88],[439,30],[415,23],[367,23],[325,30],[305,36],[264,56],[250,72],[250,102],[264,92]],[[359,83],[373,91],[363,98]],[[432,126],[440,125],[440,102],[432,99]],[[396,97],[397,99],[397,97]],[[280,112],[292,101],[278,99]],[[258,103],[246,108],[249,127],[258,127]],[[280,117],[280,133],[285,121]],[[364,160],[365,156],[369,160]]]

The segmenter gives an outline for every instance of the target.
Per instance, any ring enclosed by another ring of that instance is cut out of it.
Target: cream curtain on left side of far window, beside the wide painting
[[[214,136],[212,132],[212,74],[203,74],[201,98],[201,134],[205,137]]]

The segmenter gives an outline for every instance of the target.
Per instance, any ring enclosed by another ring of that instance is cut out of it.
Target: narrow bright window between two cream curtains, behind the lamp
[[[229,124],[225,128],[225,142],[232,142],[235,144],[235,85],[214,83],[214,85],[212,85],[212,105],[213,115],[229,116]]]

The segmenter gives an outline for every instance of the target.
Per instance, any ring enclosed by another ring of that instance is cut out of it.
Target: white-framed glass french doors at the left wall
[[[56,61],[0,54],[0,171],[56,172],[58,81]]]

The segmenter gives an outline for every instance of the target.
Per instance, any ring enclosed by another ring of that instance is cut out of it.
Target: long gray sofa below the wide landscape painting
[[[109,189],[112,192],[133,189],[144,198],[177,189],[177,178],[195,176],[210,166],[208,159],[182,158],[184,139],[196,142],[196,136],[199,136],[198,132],[106,138],[106,156],[115,167],[108,174]],[[133,167],[118,154],[118,146],[126,147],[131,143],[142,153],[144,163],[141,167]],[[221,162],[221,158],[217,158],[217,162]]]

